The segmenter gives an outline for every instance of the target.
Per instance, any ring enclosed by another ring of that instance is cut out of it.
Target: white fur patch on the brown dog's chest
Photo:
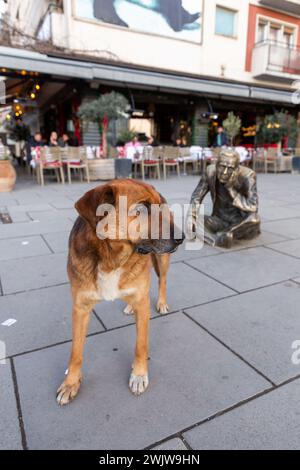
[[[116,300],[126,295],[132,294],[135,289],[120,289],[119,283],[122,275],[122,269],[118,268],[115,271],[105,273],[99,271],[98,273],[98,288],[101,299],[103,300]]]

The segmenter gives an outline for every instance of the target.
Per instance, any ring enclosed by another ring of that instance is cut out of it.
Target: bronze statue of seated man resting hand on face
[[[210,192],[213,213],[204,216],[204,241],[230,248],[234,240],[260,234],[256,173],[240,165],[231,149],[222,150],[216,165],[209,165],[191,199],[192,224],[197,226],[199,205]]]

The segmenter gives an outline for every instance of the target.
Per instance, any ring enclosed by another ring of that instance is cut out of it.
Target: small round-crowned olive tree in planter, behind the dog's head
[[[112,119],[128,117],[129,102],[121,93],[111,92],[80,106],[78,116],[83,123],[98,124],[102,136],[104,158],[108,157],[107,130]]]

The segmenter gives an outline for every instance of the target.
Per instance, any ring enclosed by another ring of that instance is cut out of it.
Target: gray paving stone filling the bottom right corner
[[[299,450],[300,381],[184,434],[199,450]]]

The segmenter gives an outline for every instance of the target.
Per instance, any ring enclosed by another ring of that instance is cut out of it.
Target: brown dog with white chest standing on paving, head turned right
[[[127,228],[125,232],[120,231],[120,196],[127,197],[128,207],[136,209],[134,213],[126,214],[127,225],[137,220],[140,207],[147,207],[149,234],[152,222],[151,206],[161,206],[166,202],[152,186],[133,180],[117,180],[89,191],[76,203],[80,217],[70,235],[68,259],[68,275],[73,297],[73,344],[67,377],[57,391],[57,402],[60,405],[69,403],[79,391],[89,317],[94,305],[101,300],[123,299],[128,304],[125,313],[135,314],[137,340],[129,387],[135,395],[140,395],[149,384],[151,264],[159,277],[157,310],[166,313],[169,253],[177,249],[184,237],[182,235],[179,239],[174,239],[174,223],[170,212],[160,214],[159,227],[156,227],[159,236],[154,240],[145,239],[141,234],[129,233]],[[104,215],[97,215],[97,209],[99,206],[103,207],[103,204],[109,204],[105,206],[108,210]],[[114,208],[117,215],[116,226],[113,227],[116,229],[114,237],[111,236],[110,227],[110,230],[106,229],[107,238],[99,238],[98,224],[104,220],[104,216],[109,216],[110,207]],[[162,225],[165,222],[169,223],[171,228],[171,236],[168,239],[161,237]]]

